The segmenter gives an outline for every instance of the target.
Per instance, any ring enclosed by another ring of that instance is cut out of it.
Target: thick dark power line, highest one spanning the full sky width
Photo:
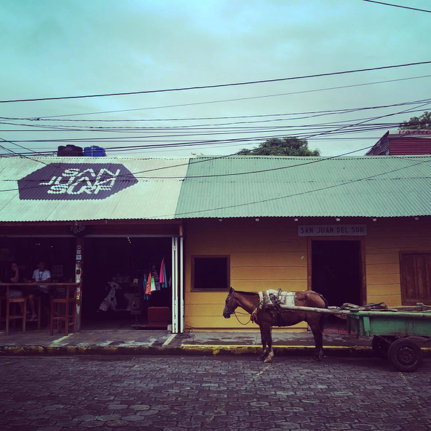
[[[244,85],[267,84],[272,82],[293,81],[293,80],[299,80],[299,79],[321,78],[324,76],[336,76],[336,75],[345,75],[345,74],[351,74],[351,73],[371,72],[374,70],[386,70],[386,69],[394,69],[394,68],[400,68],[400,67],[420,66],[424,64],[430,64],[430,63],[431,63],[431,60],[419,61],[415,63],[396,64],[391,66],[369,67],[365,69],[352,69],[352,70],[344,70],[344,71],[338,71],[338,72],[317,73],[313,75],[291,76],[288,78],[275,78],[275,79],[263,79],[263,80],[257,80],[257,81],[234,82],[234,83],[228,83],[228,84],[195,85],[191,87],[166,88],[161,90],[142,90],[142,91],[121,92],[121,93],[86,94],[86,95],[79,95],[79,96],[42,97],[42,98],[34,98],[34,99],[10,99],[10,100],[0,100],[0,103],[45,102],[45,101],[51,101],[51,100],[85,99],[85,98],[112,97],[112,96],[131,96],[136,94],[153,94],[153,93],[167,93],[167,92],[175,92],[175,91],[203,90],[203,89],[209,89],[209,88],[238,87],[238,86],[244,86]]]

